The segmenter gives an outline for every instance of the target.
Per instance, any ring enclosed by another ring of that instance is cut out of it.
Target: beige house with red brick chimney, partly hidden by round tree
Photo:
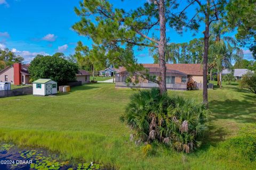
[[[14,63],[11,66],[5,67],[0,71],[0,82],[9,81],[14,85],[29,84],[30,74],[28,67],[30,64]],[[90,73],[85,70],[78,70],[76,74],[77,81],[82,81],[82,84],[90,82]]]

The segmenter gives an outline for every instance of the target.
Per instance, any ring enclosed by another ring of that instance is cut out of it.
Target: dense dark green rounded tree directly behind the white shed
[[[57,81],[59,85],[75,81],[77,72],[77,64],[59,57],[58,54],[55,56],[36,56],[29,66],[31,81],[47,78]]]

